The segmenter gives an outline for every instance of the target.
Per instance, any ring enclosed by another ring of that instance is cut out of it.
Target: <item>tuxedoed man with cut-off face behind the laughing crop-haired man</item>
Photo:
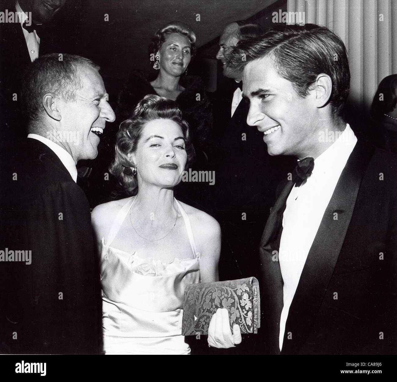
[[[19,17],[7,19],[0,23],[0,106],[2,116],[1,136],[3,145],[12,152],[14,143],[26,134],[26,126],[21,124],[20,90],[21,73],[39,55],[48,53],[66,53],[54,41],[54,33],[50,22],[64,7],[67,0],[6,0],[4,14],[12,12]],[[29,16],[31,16],[29,18]],[[7,142],[4,142],[4,139]],[[15,141],[15,142],[14,142]]]

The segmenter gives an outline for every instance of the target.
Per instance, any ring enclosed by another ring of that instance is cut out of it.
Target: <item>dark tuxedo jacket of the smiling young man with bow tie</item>
[[[292,186],[290,181],[282,189],[260,246],[260,330],[266,353],[273,354],[280,353],[283,308],[283,279],[274,260]],[[281,354],[397,353],[396,198],[397,158],[359,140],[308,253]]]

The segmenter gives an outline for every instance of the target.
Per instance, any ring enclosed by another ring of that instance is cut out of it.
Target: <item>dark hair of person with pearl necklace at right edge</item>
[[[371,106],[371,116],[380,119],[397,105],[397,74],[385,77],[378,86]],[[383,95],[381,97],[381,94]]]

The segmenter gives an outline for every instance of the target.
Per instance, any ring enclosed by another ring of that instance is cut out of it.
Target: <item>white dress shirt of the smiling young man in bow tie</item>
[[[314,160],[312,175],[300,187],[293,187],[283,214],[279,264],[283,277],[284,306],[280,318],[280,351],[285,323],[307,255],[333,191],[353,151],[357,138],[349,124],[339,138]],[[292,334],[293,335],[293,334]]]

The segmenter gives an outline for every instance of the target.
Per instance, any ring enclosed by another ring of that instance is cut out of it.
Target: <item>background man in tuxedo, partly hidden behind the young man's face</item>
[[[237,43],[258,37],[262,27],[250,21],[226,25],[216,58],[222,62],[225,81],[214,97],[214,130],[218,134],[216,217],[222,225],[221,280],[257,276],[260,236],[276,187],[293,168],[291,158],[274,158],[263,149],[260,132],[247,125],[249,105],[241,101],[242,74],[225,60]]]

